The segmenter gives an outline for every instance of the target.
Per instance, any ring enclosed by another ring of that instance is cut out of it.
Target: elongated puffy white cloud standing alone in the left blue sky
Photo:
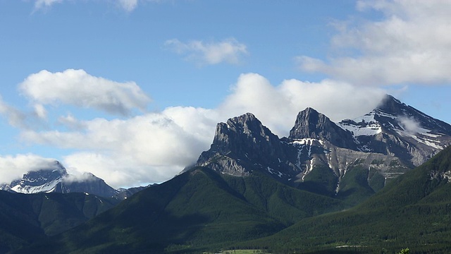
[[[38,114],[44,113],[43,104],[62,103],[128,115],[132,109],[145,111],[150,102],[134,82],[118,83],[74,69],[56,73],[39,71],[25,78],[19,89],[36,102]]]

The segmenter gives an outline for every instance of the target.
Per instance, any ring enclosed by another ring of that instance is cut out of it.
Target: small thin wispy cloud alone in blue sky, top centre
[[[240,63],[242,56],[249,54],[245,44],[231,38],[221,42],[202,42],[192,40],[180,42],[177,39],[167,40],[165,46],[173,52],[185,55],[187,60],[200,65],[217,63]]]

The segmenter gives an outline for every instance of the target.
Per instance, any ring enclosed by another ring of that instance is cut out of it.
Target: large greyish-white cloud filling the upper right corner
[[[331,46],[338,54],[328,61],[298,56],[302,70],[360,85],[451,82],[450,1],[369,0],[358,1],[357,9],[383,18],[335,23]]]

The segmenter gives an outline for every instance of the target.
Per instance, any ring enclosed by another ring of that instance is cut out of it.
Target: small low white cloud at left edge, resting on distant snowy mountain
[[[10,183],[20,179],[28,171],[39,169],[58,169],[55,159],[38,155],[0,156],[0,183]]]

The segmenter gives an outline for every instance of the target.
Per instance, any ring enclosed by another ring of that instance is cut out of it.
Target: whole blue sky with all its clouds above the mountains
[[[385,94],[451,123],[449,0],[0,0],[0,182],[58,160],[118,187],[171,179],[218,122],[280,137]]]

